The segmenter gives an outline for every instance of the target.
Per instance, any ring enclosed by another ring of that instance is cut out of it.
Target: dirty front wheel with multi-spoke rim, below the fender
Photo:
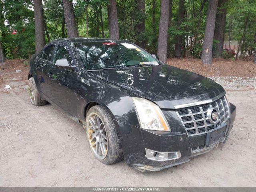
[[[124,159],[118,132],[102,106],[93,106],[87,112],[86,135],[92,154],[100,162],[110,165]]]

